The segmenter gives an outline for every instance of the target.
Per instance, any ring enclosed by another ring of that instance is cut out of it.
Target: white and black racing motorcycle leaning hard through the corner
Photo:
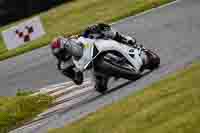
[[[84,52],[86,55],[83,56],[83,59],[72,57],[71,69],[68,67],[67,71],[62,72],[72,80],[76,79],[74,80],[76,84],[81,84],[79,81],[83,80],[83,75],[74,71],[93,69],[95,88],[100,93],[106,92],[111,77],[136,80],[142,76],[141,73],[136,72],[137,68],[140,68],[140,71],[153,71],[160,65],[160,58],[154,51],[144,49],[139,45],[133,47],[114,40],[82,39],[84,48],[87,50]],[[142,52],[145,52],[148,58],[148,63],[145,65],[140,58]],[[60,70],[62,69],[61,65],[61,62],[58,63]],[[71,71],[72,69],[73,71]]]

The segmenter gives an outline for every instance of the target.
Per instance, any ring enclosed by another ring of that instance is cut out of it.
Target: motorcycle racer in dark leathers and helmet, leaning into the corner
[[[88,38],[91,40],[113,39],[120,43],[132,45],[133,47],[138,47],[135,39],[129,36],[124,36],[119,32],[114,31],[109,25],[102,23],[88,27],[83,32],[81,37]],[[79,38],[58,37],[55,40],[53,40],[51,45],[53,55],[56,56],[56,58],[58,59],[58,69],[60,70],[62,69],[60,68],[61,62],[67,62],[68,64],[67,69],[63,69],[65,70],[63,72],[70,74],[72,76],[72,79],[74,79],[77,84],[82,83],[83,73],[82,71],[76,69],[71,57],[73,56],[76,59],[80,59],[82,57],[84,45],[81,37]]]

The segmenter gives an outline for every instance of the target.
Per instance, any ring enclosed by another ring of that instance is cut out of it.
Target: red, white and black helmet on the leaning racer
[[[70,58],[68,52],[64,48],[64,41],[62,37],[57,37],[53,39],[51,42],[51,50],[52,54],[58,59],[62,61],[66,61]]]

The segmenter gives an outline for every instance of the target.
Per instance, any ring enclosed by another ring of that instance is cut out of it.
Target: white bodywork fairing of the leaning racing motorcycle
[[[132,48],[128,45],[121,44],[114,40],[104,40],[104,39],[88,39],[80,37],[79,41],[84,44],[83,56],[79,60],[73,59],[75,66],[80,70],[84,71],[87,66],[96,58],[100,53],[105,51],[117,51],[121,53],[133,66],[136,73],[140,71],[143,65],[142,58],[140,57],[141,50]],[[93,57],[94,45],[98,49],[99,53]]]

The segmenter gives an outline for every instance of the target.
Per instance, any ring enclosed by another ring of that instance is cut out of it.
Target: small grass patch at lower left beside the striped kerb
[[[0,133],[31,120],[47,109],[52,101],[53,98],[46,95],[0,97]]]

